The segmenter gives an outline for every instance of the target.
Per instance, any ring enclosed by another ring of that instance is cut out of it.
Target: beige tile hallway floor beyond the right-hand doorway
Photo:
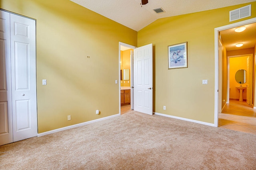
[[[256,135],[256,109],[246,102],[230,100],[219,113],[219,127]]]

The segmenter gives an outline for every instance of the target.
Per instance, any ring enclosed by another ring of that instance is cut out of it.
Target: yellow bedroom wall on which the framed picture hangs
[[[138,31],[138,47],[153,44],[155,112],[214,123],[214,28],[255,18],[252,10],[251,17],[229,22],[230,10],[248,4],[162,18]],[[185,41],[188,68],[168,70],[168,45]]]

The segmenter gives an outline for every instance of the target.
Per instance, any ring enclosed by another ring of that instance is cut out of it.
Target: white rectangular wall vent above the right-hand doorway
[[[229,12],[229,21],[239,20],[251,16],[252,5],[244,6]]]

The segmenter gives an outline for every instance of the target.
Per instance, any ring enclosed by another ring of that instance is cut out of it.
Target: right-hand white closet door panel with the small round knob
[[[37,136],[36,21],[10,14],[13,141]]]

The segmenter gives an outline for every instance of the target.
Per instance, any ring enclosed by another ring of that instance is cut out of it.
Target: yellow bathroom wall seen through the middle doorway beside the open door
[[[124,69],[131,69],[131,64],[130,64],[130,51],[131,49],[125,50],[123,51],[123,62],[122,62],[122,66],[123,66],[123,86],[128,86],[130,87],[130,73],[129,73],[129,80],[124,80]]]

